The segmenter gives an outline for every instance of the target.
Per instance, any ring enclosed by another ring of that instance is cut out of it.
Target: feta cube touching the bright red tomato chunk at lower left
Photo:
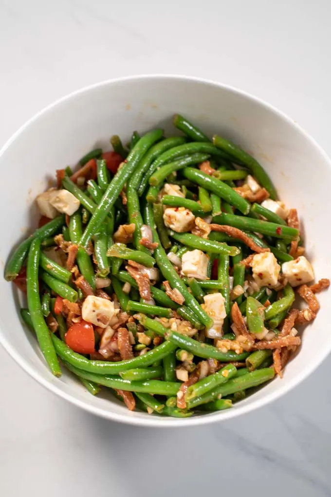
[[[101,328],[106,328],[111,318],[118,312],[119,309],[114,308],[113,302],[94,295],[88,295],[82,306],[82,318],[84,321]]]

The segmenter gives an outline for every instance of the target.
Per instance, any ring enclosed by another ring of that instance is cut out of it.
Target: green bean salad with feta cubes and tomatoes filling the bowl
[[[64,367],[131,411],[188,417],[282,377],[330,281],[308,285],[298,213],[262,166],[173,122],[176,136],[112,136],[112,151],[57,170],[4,277],[26,293],[21,318],[55,376]]]

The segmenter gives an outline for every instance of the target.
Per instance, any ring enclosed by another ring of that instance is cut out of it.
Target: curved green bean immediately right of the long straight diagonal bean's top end
[[[135,173],[135,175],[137,175],[137,180],[140,181],[137,190],[139,197],[141,197],[141,195],[143,194],[148,184],[149,177],[154,171],[153,161],[158,156],[163,154],[163,152],[166,152],[167,150],[177,147],[178,145],[183,145],[185,142],[186,142],[185,138],[175,136],[173,138],[166,138],[165,140],[162,140],[161,142],[153,145],[153,147],[149,149],[149,151],[141,159],[137,171]]]

